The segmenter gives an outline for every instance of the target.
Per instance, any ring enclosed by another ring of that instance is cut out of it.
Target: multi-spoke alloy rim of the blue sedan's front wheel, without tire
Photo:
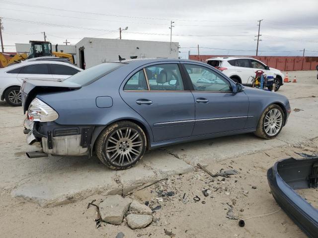
[[[269,136],[274,136],[281,129],[282,124],[283,115],[278,109],[274,108],[270,110],[265,116],[264,130]]]

